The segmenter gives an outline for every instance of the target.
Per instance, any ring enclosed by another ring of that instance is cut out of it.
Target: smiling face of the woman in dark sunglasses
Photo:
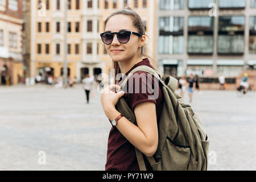
[[[105,31],[119,32],[121,30],[128,30],[138,32],[137,28],[133,26],[130,16],[114,15],[106,23]],[[141,55],[141,47],[144,45],[144,37],[131,35],[130,40],[123,44],[117,39],[117,34],[114,34],[114,39],[111,44],[105,44],[106,50],[113,61],[130,60],[136,55]],[[121,51],[118,51],[121,50]]]

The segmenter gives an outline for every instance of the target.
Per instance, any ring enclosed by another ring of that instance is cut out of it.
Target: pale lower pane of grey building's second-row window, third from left
[[[218,53],[242,54],[243,35],[218,35]]]

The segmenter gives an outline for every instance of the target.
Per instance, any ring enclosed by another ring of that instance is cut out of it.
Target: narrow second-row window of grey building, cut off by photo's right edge
[[[256,16],[250,17],[249,53],[256,53]]]

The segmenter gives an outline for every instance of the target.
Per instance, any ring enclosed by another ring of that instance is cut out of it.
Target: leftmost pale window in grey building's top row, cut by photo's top
[[[185,0],[160,0],[160,10],[181,10],[185,7]]]

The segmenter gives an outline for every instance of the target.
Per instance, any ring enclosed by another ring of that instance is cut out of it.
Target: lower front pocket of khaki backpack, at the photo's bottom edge
[[[162,156],[158,169],[167,171],[187,171],[191,150],[189,146],[179,146],[174,144],[170,138],[166,138]]]

